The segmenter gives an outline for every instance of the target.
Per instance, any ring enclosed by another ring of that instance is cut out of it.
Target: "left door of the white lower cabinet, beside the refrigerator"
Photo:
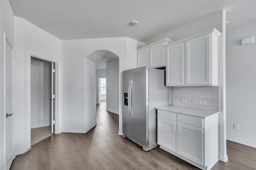
[[[174,121],[157,118],[157,144],[176,152],[176,126]]]

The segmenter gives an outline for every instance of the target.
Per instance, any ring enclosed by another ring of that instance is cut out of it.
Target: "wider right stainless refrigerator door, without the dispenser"
[[[131,139],[148,147],[148,68],[131,70]]]

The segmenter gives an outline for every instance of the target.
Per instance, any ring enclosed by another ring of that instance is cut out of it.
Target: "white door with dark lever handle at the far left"
[[[13,49],[7,40],[5,45],[6,166],[7,169],[10,169],[14,159]]]

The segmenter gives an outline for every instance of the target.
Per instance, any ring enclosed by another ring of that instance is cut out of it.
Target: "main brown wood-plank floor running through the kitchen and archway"
[[[228,162],[212,170],[256,170],[256,148],[227,141]],[[118,115],[97,105],[97,126],[85,134],[60,133],[17,155],[11,170],[198,170],[155,148],[148,152],[118,135]]]

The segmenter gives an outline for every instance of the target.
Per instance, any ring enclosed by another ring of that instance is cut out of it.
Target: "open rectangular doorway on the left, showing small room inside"
[[[55,132],[56,63],[30,56],[30,146]]]

